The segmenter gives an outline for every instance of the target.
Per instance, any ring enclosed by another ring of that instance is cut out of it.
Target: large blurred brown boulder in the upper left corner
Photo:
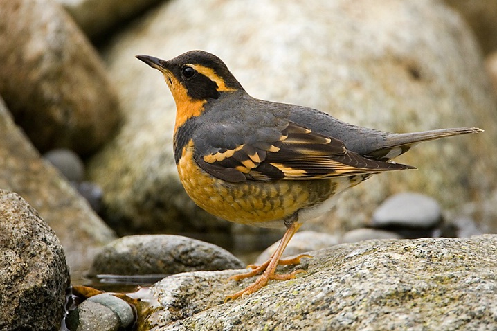
[[[94,152],[119,119],[116,91],[91,44],[50,0],[0,6],[0,95],[45,152]]]

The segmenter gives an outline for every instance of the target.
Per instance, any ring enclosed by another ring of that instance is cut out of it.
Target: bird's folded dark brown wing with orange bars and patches
[[[235,148],[218,147],[197,157],[197,162],[211,175],[231,182],[323,179],[413,168],[367,159],[348,151],[340,140],[296,123],[275,132],[260,128]]]

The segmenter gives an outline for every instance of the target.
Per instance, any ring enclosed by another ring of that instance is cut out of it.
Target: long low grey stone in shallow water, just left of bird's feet
[[[178,274],[242,267],[231,253],[207,242],[179,235],[130,235],[104,247],[89,274]]]

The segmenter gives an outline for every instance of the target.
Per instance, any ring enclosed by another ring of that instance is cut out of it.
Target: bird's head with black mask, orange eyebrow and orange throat
[[[217,99],[221,93],[242,89],[226,64],[204,51],[189,51],[168,61],[149,55],[136,58],[161,71],[177,105]]]

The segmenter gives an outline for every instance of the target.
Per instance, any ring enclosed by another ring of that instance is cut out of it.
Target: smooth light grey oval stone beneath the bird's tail
[[[431,229],[441,221],[442,209],[435,199],[411,192],[388,197],[372,216],[372,226],[377,228],[402,226]]]

